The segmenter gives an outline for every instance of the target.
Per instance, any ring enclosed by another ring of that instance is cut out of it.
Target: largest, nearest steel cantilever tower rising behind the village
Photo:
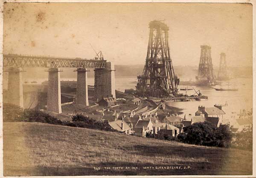
[[[143,74],[138,76],[137,92],[141,96],[168,97],[177,93],[179,78],[175,75],[168,43],[168,26],[161,21],[149,23],[149,40]]]

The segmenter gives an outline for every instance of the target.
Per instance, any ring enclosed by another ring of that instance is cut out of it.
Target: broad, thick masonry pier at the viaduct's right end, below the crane
[[[112,95],[113,98],[116,98],[114,64],[107,62],[106,69],[96,68],[94,72],[95,97],[100,99],[102,96],[107,97]]]

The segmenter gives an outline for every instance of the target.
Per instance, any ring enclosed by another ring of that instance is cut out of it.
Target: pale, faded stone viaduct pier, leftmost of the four
[[[8,73],[8,103],[23,108],[23,78],[22,68],[11,67]]]

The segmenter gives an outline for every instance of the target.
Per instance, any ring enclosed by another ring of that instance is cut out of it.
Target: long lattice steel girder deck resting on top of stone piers
[[[3,55],[3,66],[8,67],[106,68],[106,62],[81,58]]]

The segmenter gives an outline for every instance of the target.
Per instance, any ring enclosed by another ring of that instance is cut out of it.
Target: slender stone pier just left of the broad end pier
[[[88,70],[86,68],[78,68],[75,71],[77,71],[76,103],[89,106],[87,81]]]

